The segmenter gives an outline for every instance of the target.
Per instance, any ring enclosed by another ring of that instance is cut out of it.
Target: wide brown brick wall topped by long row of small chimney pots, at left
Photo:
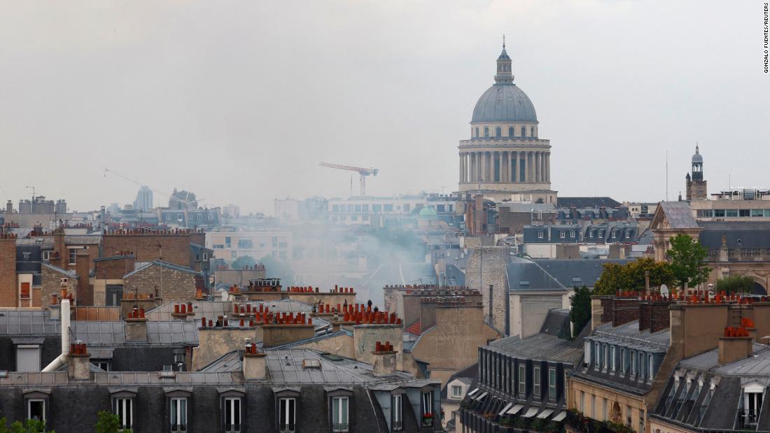
[[[190,237],[189,233],[102,235],[102,257],[113,257],[120,251],[133,251],[136,261],[153,261],[161,258],[162,253],[163,261],[187,267],[190,265]]]

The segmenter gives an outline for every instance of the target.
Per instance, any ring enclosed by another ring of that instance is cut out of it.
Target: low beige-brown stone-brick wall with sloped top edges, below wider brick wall
[[[152,265],[125,278],[123,293],[157,295],[163,302],[195,301],[195,275]]]

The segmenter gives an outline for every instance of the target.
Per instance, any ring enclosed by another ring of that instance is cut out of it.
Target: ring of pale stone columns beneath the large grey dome
[[[460,183],[551,182],[551,152],[460,152]]]

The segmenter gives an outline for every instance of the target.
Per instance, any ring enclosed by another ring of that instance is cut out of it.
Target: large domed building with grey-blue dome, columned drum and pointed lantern
[[[494,85],[476,102],[470,139],[460,141],[460,193],[495,201],[556,203],[551,142],[537,137],[537,112],[514,84],[503,44]]]

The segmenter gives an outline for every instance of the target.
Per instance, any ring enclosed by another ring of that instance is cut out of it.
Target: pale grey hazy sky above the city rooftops
[[[560,195],[770,186],[762,2],[0,2],[0,199],[206,205],[457,188],[500,35]],[[357,178],[354,179],[357,190]],[[167,198],[156,194],[156,202]]]

